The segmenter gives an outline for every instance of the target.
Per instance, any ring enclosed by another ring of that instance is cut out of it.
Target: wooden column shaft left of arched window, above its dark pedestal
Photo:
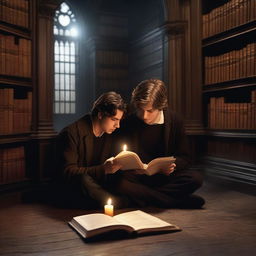
[[[50,1],[39,2],[37,27],[37,135],[53,135],[54,40],[53,15],[57,7]]]

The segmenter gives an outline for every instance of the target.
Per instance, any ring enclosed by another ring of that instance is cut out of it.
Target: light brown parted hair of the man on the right
[[[163,81],[148,79],[140,82],[132,92],[131,105],[136,109],[152,103],[154,109],[168,106],[167,90]]]

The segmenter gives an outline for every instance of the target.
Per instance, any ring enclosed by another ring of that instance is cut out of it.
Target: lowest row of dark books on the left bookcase
[[[0,149],[0,184],[23,181],[26,178],[23,146]]]

